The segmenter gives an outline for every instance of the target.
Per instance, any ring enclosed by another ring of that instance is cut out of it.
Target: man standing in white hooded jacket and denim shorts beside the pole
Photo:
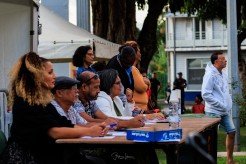
[[[211,55],[202,83],[202,97],[205,100],[205,113],[208,116],[221,118],[220,126],[227,133],[227,164],[234,164],[233,149],[236,129],[230,115],[232,98],[229,94],[228,78],[223,70],[227,60],[222,52]]]

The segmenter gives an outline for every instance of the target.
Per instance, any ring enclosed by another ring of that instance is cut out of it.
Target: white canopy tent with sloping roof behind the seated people
[[[71,61],[74,51],[82,45],[90,45],[97,60],[110,59],[118,52],[118,44],[69,23],[42,5],[39,23],[42,24],[42,34],[39,36],[38,54],[53,62]]]

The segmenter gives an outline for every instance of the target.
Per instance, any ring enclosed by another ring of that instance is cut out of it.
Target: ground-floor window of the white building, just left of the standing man
[[[188,90],[201,90],[203,75],[209,61],[209,58],[187,59]]]

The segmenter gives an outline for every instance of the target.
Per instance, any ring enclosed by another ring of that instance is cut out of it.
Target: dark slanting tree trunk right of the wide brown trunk
[[[154,53],[157,51],[157,20],[165,4],[167,4],[167,0],[148,0],[148,14],[137,40],[142,54],[140,65],[146,70]]]

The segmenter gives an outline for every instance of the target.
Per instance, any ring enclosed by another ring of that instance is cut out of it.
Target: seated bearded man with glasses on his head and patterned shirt
[[[78,80],[81,82],[78,85],[79,101],[77,101],[73,107],[78,111],[81,117],[86,119],[88,122],[104,121],[108,123],[107,120],[110,120],[110,124],[112,122],[117,123],[117,128],[119,129],[142,127],[145,125],[144,122],[142,122],[144,119],[143,116],[123,121],[108,117],[100,110],[95,102],[100,92],[100,79],[98,74],[84,71],[79,75]]]

